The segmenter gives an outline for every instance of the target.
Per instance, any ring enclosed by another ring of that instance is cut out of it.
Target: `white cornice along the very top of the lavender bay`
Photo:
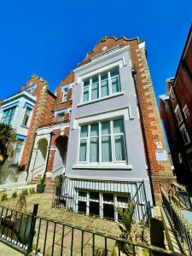
[[[125,47],[118,49],[117,51],[111,53],[110,55],[103,56],[102,58],[99,58],[99,59],[96,60],[96,61],[91,61],[91,62],[89,62],[89,63],[87,63],[87,64],[84,64],[84,65],[81,66],[81,67],[77,67],[76,69],[73,70],[73,72],[74,72],[74,73],[79,73],[80,71],[83,71],[83,70],[86,69],[87,67],[95,66],[96,63],[100,63],[100,62],[102,62],[102,61],[106,61],[106,60],[112,58],[112,57],[115,56],[115,55],[119,55],[119,54],[121,54],[121,53],[125,53],[125,52],[129,51],[129,49],[130,49],[130,46],[126,45]],[[126,64],[126,65],[127,65],[127,64]]]

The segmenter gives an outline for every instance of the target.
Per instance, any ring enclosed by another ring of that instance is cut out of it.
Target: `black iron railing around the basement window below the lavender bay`
[[[145,223],[150,215],[143,181],[118,181],[56,177],[53,207],[71,212],[119,220],[119,209],[125,211],[134,202],[134,220]]]

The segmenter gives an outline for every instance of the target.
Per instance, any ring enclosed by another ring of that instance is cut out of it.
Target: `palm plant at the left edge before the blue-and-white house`
[[[8,158],[9,143],[15,143],[16,133],[13,127],[0,123],[0,166]]]

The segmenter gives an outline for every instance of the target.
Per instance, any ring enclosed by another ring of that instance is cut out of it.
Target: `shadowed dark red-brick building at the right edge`
[[[166,80],[166,94],[160,96],[160,116],[172,153],[177,181],[192,193],[192,26],[175,78]]]

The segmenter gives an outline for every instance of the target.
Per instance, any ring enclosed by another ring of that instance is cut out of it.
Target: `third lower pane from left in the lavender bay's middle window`
[[[104,136],[102,137],[102,162],[111,162],[111,137]]]

